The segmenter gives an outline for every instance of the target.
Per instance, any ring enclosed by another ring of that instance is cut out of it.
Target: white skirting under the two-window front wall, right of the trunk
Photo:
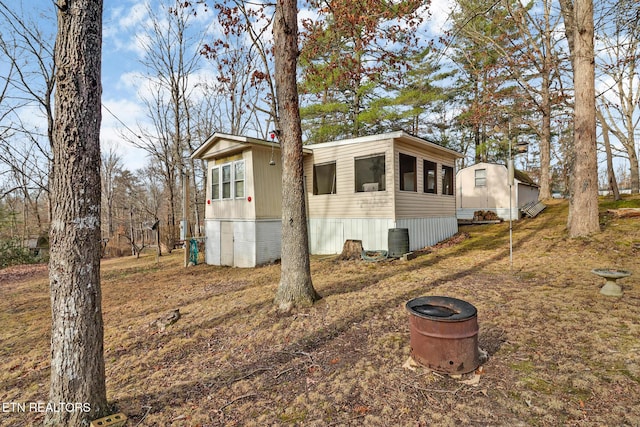
[[[310,218],[309,250],[314,255],[339,254],[344,242],[362,240],[366,250],[387,250],[391,218]]]

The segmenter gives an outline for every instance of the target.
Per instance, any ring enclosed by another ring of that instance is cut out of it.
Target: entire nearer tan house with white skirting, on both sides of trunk
[[[208,161],[206,262],[252,267],[279,258],[278,144],[214,134],[192,157]],[[306,145],[310,252],[340,253],[348,239],[386,250],[398,228],[408,230],[410,250],[452,236],[459,157],[402,131]]]

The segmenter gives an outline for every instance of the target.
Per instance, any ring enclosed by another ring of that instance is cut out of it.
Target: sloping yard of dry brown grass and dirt
[[[105,260],[109,401],[127,426],[638,426],[640,218],[607,207],[590,238],[567,237],[566,201],[515,222],[512,265],[508,223],[461,227],[405,262],[314,257],[323,298],[290,315],[272,305],[277,264]],[[598,292],[591,269],[605,267],[633,272],[624,296]],[[478,309],[476,372],[403,367],[405,303],[423,295]],[[46,267],[0,271],[0,402],[47,400],[49,310]],[[0,412],[0,425],[42,418]]]

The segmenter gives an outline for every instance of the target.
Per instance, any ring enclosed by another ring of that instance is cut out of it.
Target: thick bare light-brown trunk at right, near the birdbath
[[[593,0],[560,0],[573,66],[574,167],[567,228],[572,237],[600,231],[596,146]]]

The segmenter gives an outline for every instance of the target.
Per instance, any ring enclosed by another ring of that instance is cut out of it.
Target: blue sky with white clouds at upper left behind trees
[[[18,14],[34,20],[45,34],[55,39],[55,7],[52,0],[0,0],[12,7]],[[153,9],[158,0],[147,0]],[[213,2],[210,2],[213,3]],[[431,4],[431,19],[425,23],[423,31],[438,32],[446,21],[451,0],[435,0]],[[309,13],[301,11],[301,14]],[[197,24],[206,28],[213,14],[199,13]],[[145,107],[141,95],[145,93],[145,82],[140,76],[144,73],[141,64],[144,50],[144,26],[148,20],[147,3],[138,0],[105,0],[103,11],[103,51],[102,51],[102,132],[103,150],[113,148],[119,153],[129,169],[137,169],[146,163],[146,153],[127,143],[122,134],[134,136],[139,125],[146,122]],[[213,27],[211,27],[213,28]],[[434,31],[435,30],[435,31]],[[0,31],[4,31],[0,28]],[[215,28],[213,29],[215,31]],[[196,47],[194,47],[195,49]],[[0,59],[0,71],[3,64]],[[210,74],[206,63],[200,73]],[[200,76],[199,78],[203,78]],[[42,118],[33,117],[32,120]]]

